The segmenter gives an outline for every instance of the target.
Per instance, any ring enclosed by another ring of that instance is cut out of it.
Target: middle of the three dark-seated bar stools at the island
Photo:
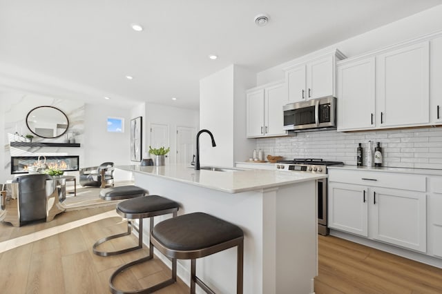
[[[143,246],[143,219],[146,217],[155,217],[157,215],[166,215],[167,213],[172,213],[173,217],[177,216],[177,211],[180,208],[179,204],[171,199],[167,199],[165,197],[161,197],[158,195],[149,195],[145,197],[137,197],[134,199],[124,200],[117,205],[117,213],[122,217],[127,219],[140,219],[139,228],[138,228],[138,246],[133,248],[123,249],[121,251],[111,252],[111,254],[107,253],[107,255],[115,255],[119,253],[124,253],[128,251],[132,251],[135,249],[142,248]],[[153,219],[150,222],[150,232],[153,230]],[[119,234],[123,235],[123,234]],[[111,236],[112,239],[114,237],[119,237],[119,235]],[[126,235],[126,233],[124,233]],[[107,237],[110,239],[111,237]],[[106,238],[104,238],[106,239]],[[95,246],[95,245],[94,245]],[[94,247],[95,248],[95,247]],[[102,255],[106,256],[106,255]],[[109,286],[111,288],[111,292],[114,294],[123,294],[123,293],[151,293],[156,291],[157,289],[163,288],[164,286],[168,286],[176,282],[176,259],[173,259],[173,271],[171,279],[158,284],[157,286],[153,286],[147,289],[142,289],[140,291],[131,291],[124,292],[115,288],[113,284],[113,280],[119,273],[124,271],[126,268],[134,266],[135,264],[140,264],[142,262],[146,262],[149,259],[153,259],[153,245],[149,245],[149,255],[147,257],[143,257],[141,259],[137,259],[133,262],[129,262],[128,264],[124,264],[117,268],[117,270],[111,275],[109,279]]]

